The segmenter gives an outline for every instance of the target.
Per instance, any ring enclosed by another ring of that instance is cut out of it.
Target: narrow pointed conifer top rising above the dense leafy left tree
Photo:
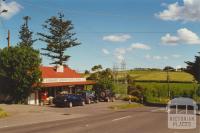
[[[31,19],[29,16],[25,16],[24,18],[24,24],[21,26],[21,29],[19,31],[19,46],[25,46],[25,47],[32,47],[34,42],[36,40],[33,40],[33,32],[29,30],[28,21]]]

